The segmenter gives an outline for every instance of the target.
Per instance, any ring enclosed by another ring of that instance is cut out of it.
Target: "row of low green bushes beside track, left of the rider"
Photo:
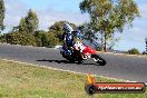
[[[1,42],[21,46],[37,46],[37,47],[49,47],[52,48],[59,43],[58,38],[53,32],[46,32],[43,30],[36,31],[35,35],[11,31],[0,37]]]

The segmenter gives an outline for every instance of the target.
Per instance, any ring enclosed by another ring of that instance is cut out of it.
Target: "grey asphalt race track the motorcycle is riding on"
[[[92,60],[82,65],[69,63],[57,49],[22,47],[0,43],[0,58],[37,63],[76,72],[147,82],[147,57],[100,53],[107,60],[106,66],[97,66]]]

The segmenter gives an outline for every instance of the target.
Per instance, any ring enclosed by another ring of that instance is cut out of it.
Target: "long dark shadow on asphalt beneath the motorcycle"
[[[57,62],[57,63],[77,63],[77,65],[79,65],[78,62],[69,62],[68,60],[46,60],[46,59],[42,59],[42,60],[37,60],[37,61],[39,61],[39,62],[47,61],[47,62]],[[80,65],[96,65],[97,66],[97,63],[86,63],[86,62],[82,62]]]

